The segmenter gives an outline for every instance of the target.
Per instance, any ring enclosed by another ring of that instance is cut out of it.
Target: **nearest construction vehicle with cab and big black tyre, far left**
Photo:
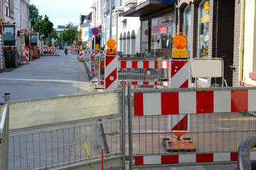
[[[17,37],[20,32],[17,31]],[[6,67],[16,67],[19,63],[18,42],[20,38],[16,38],[15,24],[3,23],[3,39],[4,39],[4,58]],[[19,43],[20,44],[20,43]]]

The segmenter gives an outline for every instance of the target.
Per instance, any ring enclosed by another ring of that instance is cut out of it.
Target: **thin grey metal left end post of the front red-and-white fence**
[[[132,148],[132,88],[128,82],[128,130],[129,130],[129,169],[133,169],[133,148]]]

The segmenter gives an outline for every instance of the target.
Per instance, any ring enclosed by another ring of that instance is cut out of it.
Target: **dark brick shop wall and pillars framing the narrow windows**
[[[203,2],[182,0],[178,4],[177,31],[183,31],[183,9],[191,5],[191,57],[198,57],[198,6]],[[208,57],[222,57],[224,79],[233,85],[233,42],[234,42],[235,1],[209,0]],[[209,83],[221,84],[221,79],[208,79]]]

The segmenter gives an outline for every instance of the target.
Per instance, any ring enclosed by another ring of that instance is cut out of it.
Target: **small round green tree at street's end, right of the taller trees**
[[[63,44],[72,45],[74,40],[78,40],[78,26],[73,23],[68,23],[64,30],[61,31],[61,38]]]

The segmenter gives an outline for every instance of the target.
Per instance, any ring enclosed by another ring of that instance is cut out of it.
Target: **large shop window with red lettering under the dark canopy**
[[[174,16],[169,14],[151,19],[151,56],[171,57]]]

